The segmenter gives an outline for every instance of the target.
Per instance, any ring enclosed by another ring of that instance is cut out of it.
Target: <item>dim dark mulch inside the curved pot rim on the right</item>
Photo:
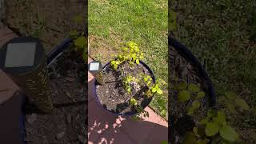
[[[188,84],[200,84],[201,90],[205,90],[202,78],[198,75],[197,67],[187,62],[186,58],[183,58],[173,47],[169,47],[169,49],[170,88],[180,82],[186,82]],[[186,134],[186,131],[193,130],[194,126],[197,126],[198,120],[206,116],[209,101],[207,94],[205,98],[198,99],[201,106],[195,111],[194,117],[186,115],[188,106],[191,106],[192,100],[190,99],[188,102],[178,102],[177,90],[169,90],[169,101],[170,140],[171,143],[181,143],[182,137]]]

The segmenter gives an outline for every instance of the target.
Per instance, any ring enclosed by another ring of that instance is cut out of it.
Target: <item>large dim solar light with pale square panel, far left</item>
[[[37,38],[14,38],[6,42],[0,49],[0,69],[14,79],[41,112],[51,112],[46,55]]]

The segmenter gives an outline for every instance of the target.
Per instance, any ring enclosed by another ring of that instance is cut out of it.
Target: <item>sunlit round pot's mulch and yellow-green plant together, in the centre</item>
[[[144,110],[155,95],[163,94],[162,80],[155,80],[152,70],[142,62],[144,54],[134,42],[127,42],[122,53],[103,66],[104,85],[96,86],[98,102],[105,110],[118,115],[148,117]]]

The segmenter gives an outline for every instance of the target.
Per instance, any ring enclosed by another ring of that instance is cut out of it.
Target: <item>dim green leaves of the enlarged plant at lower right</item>
[[[194,114],[194,110],[201,106],[198,98],[205,97],[204,92],[196,84],[182,82],[174,86],[174,90],[178,90],[178,102],[188,102],[190,99],[193,101],[188,107],[188,114],[191,116]],[[234,113],[235,108],[249,110],[246,102],[234,93],[226,92],[219,102],[226,106],[231,113]],[[183,139],[183,144],[206,144],[209,142],[213,144],[242,143],[238,133],[228,125],[226,114],[222,110],[208,110],[206,118],[202,118],[198,126],[194,127],[193,131],[188,131]]]

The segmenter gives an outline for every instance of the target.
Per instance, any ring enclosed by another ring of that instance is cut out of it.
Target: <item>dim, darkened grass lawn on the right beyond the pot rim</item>
[[[234,91],[250,105],[232,122],[242,138],[256,141],[255,1],[172,0],[171,10],[177,14],[173,37],[206,63],[218,97]]]

